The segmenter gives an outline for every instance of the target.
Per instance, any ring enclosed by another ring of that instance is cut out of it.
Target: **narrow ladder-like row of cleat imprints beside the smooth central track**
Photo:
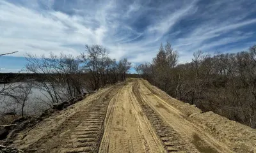
[[[111,94],[111,95],[109,95]],[[100,141],[104,133],[104,120],[108,110],[109,101],[116,92],[109,93],[103,101],[95,101],[91,108],[87,108],[88,118],[79,124],[71,134],[69,145],[61,150],[61,153],[71,152],[98,152]]]

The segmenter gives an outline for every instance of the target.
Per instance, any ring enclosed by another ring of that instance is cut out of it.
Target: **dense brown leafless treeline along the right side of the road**
[[[256,128],[256,45],[236,54],[195,52],[178,64],[170,43],[136,71],[170,96]]]

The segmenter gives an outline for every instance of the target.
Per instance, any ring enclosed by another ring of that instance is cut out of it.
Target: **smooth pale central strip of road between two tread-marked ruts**
[[[99,152],[164,152],[132,94],[129,82],[109,104]]]

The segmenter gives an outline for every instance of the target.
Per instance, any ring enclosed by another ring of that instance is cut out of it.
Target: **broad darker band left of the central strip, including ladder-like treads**
[[[51,131],[52,135],[41,138],[29,146],[26,152],[98,152],[109,101],[120,86],[111,87],[102,96],[79,108],[59,128]]]

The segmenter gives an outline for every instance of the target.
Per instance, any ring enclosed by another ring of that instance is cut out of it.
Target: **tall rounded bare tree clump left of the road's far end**
[[[86,52],[81,53],[79,60],[83,64],[83,72],[88,75],[90,86],[97,90],[104,85],[125,80],[126,73],[131,68],[131,62],[122,59],[116,62],[108,56],[108,50],[100,45],[86,45]]]

